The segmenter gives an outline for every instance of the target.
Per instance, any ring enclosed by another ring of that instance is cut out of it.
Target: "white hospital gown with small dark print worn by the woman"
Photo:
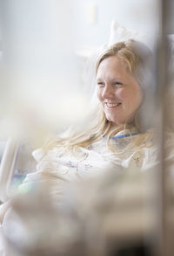
[[[134,131],[135,132],[135,131]],[[117,133],[111,143],[117,146],[118,153],[112,153],[107,148],[104,137],[94,142],[88,149],[78,148],[77,156],[72,152],[64,153],[63,149],[53,148],[46,153],[43,149],[35,150],[32,155],[37,161],[37,171],[26,176],[19,190],[30,190],[37,184],[50,184],[53,196],[62,194],[63,184],[76,181],[83,177],[95,177],[107,172],[107,170],[120,171],[120,167],[126,170],[151,170],[159,163],[159,150],[157,145],[151,146],[151,141],[145,143],[141,149],[126,149],[131,142],[131,136],[125,136],[125,131]],[[122,137],[123,136],[123,137]],[[137,137],[134,135],[134,137]],[[173,137],[173,136],[172,136]],[[173,138],[167,138],[166,160],[173,163],[174,150]]]

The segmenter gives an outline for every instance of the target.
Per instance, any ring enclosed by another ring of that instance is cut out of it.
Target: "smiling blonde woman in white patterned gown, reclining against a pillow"
[[[37,172],[29,174],[20,191],[50,185],[55,199],[64,183],[98,176],[107,170],[145,170],[158,162],[157,146],[146,115],[151,106],[151,51],[129,40],[111,45],[97,60],[97,118],[81,133],[58,137],[34,151]],[[143,126],[141,126],[143,123]],[[172,145],[171,145],[172,146]],[[170,156],[172,157],[172,156]]]

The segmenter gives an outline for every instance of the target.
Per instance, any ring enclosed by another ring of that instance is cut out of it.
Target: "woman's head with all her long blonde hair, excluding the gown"
[[[75,128],[74,133],[68,137],[57,137],[46,142],[43,151],[55,147],[70,151],[79,147],[88,149],[92,143],[107,135],[109,149],[116,152],[116,146],[110,147],[110,137],[118,132],[132,135],[135,130],[139,135],[137,140],[131,138],[131,145],[133,143],[139,147],[144,137],[151,136],[151,133],[146,133],[147,130],[143,132],[144,124],[141,122],[142,111],[151,103],[150,95],[154,88],[151,56],[151,50],[146,45],[133,39],[104,50],[98,56],[96,65],[99,102],[94,120],[90,120],[85,131],[79,132]],[[146,128],[151,128],[148,121]]]

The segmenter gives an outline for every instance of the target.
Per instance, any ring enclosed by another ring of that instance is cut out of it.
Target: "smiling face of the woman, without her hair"
[[[142,92],[126,63],[116,56],[104,59],[97,70],[97,98],[114,126],[133,121]]]

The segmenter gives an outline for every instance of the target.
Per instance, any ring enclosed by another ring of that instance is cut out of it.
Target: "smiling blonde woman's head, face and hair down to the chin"
[[[140,107],[146,103],[144,95],[151,94],[154,87],[151,78],[151,51],[141,42],[120,42],[101,54],[97,61],[97,97],[112,127],[137,126]]]

